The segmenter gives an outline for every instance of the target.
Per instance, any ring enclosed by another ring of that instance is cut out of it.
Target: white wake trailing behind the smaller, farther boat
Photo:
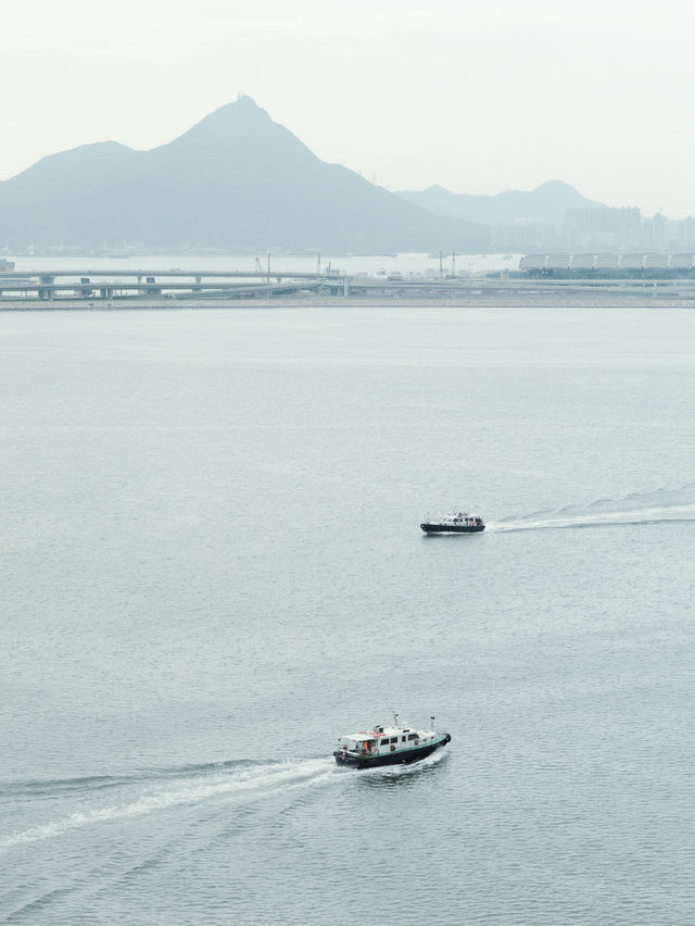
[[[520,517],[503,517],[488,524],[488,533],[513,530],[559,530],[616,525],[695,522],[695,483],[677,489],[633,492],[621,499],[597,499]]]

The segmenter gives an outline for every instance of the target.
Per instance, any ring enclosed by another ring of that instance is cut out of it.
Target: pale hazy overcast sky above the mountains
[[[389,189],[557,178],[695,214],[692,3],[1,5],[0,179],[86,142],[165,143],[241,90]]]

